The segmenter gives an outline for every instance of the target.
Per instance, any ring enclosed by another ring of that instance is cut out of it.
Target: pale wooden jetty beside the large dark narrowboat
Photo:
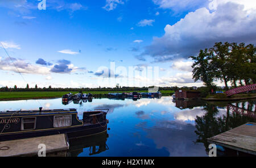
[[[46,153],[63,152],[69,149],[65,134],[24,138],[0,142],[0,157],[38,156],[39,144],[46,145]]]

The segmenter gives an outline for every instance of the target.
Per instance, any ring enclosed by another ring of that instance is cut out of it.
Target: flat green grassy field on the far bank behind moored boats
[[[22,100],[22,99],[43,99],[43,98],[61,98],[64,94],[67,93],[79,93],[78,91],[1,91],[0,100]],[[111,93],[130,93],[133,91],[111,91]],[[137,91],[147,92],[144,91]],[[88,92],[85,92],[88,93]],[[104,95],[110,93],[110,91],[90,91],[93,95]],[[173,90],[163,90],[161,91],[163,95],[171,95],[174,93]]]

